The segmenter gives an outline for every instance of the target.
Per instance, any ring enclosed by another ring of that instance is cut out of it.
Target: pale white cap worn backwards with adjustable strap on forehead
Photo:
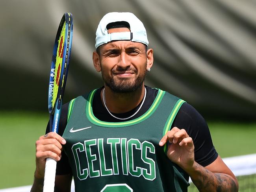
[[[130,24],[130,32],[108,33],[106,26],[109,23],[119,21],[128,22]],[[133,13],[128,12],[107,13],[100,20],[96,30],[95,48],[98,48],[98,46],[114,40],[130,40],[134,42],[141,42],[148,46],[147,32],[143,23]]]

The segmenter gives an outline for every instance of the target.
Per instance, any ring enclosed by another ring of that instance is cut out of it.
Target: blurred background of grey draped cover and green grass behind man
[[[100,18],[133,12],[154,49],[146,85],[193,105],[221,157],[256,153],[255,10],[255,1],[239,0],[1,1],[0,188],[33,182],[52,46],[65,12],[74,29],[64,103],[102,85],[91,59]]]

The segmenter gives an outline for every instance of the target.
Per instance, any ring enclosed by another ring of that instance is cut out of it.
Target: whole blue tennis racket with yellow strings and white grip
[[[69,57],[72,44],[72,33],[72,14],[65,13],[61,18],[61,22],[59,24],[56,39],[54,42],[48,90],[50,129],[52,129],[52,132],[55,133],[58,133],[62,99],[67,81]],[[54,192],[56,163],[57,162],[54,159],[46,159],[43,192]]]

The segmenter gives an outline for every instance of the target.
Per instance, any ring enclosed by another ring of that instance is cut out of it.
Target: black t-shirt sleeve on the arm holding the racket
[[[67,113],[69,110],[69,103],[65,103],[62,105],[61,109],[61,115],[59,119],[59,129],[58,129],[58,134],[60,136],[63,135],[65,127],[67,125]],[[46,127],[46,133],[50,132],[50,125],[49,122]],[[61,159],[57,162],[56,166],[56,175],[66,175],[66,174],[72,174],[72,170],[69,165],[69,160],[64,151],[61,152]]]

